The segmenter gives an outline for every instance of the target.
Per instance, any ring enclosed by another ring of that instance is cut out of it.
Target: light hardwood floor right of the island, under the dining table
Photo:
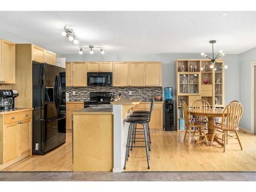
[[[243,151],[236,139],[229,139],[223,153],[215,142],[212,146],[197,145],[191,139],[187,146],[183,142],[184,132],[151,130],[151,169],[147,169],[145,148],[137,147],[131,151],[124,171],[255,171],[256,135],[243,131],[239,135]]]

